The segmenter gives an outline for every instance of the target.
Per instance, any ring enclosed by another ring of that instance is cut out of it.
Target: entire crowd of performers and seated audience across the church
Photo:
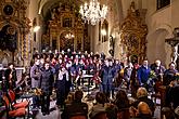
[[[75,113],[82,113],[92,119],[101,111],[106,111],[108,119],[116,119],[119,111],[129,108],[132,110],[130,113],[133,114],[132,117],[151,119],[154,115],[155,104],[148,97],[148,92],[158,93],[158,84],[167,87],[165,106],[169,108],[179,106],[177,101],[179,76],[175,67],[176,64],[170,63],[169,68],[166,69],[159,60],[151,65],[148,60],[144,60],[141,65],[128,63],[127,66],[124,66],[118,60],[106,58],[104,53],[76,53],[69,49],[66,52],[55,51],[41,54],[36,52],[31,60],[29,76],[31,89],[40,90],[40,98],[39,95],[34,96],[33,106],[36,109],[41,106],[42,115],[49,115],[50,96],[55,90],[56,107],[63,109],[62,118],[65,117],[64,119]],[[82,75],[85,74],[92,75],[88,84],[99,89],[95,94],[97,103],[90,110],[88,105],[81,102],[84,92],[79,89],[84,85]],[[4,92],[16,88],[17,79],[13,64],[9,64],[2,80],[5,83],[2,88]],[[125,91],[122,90],[123,85],[126,87]],[[75,98],[66,104],[65,100],[71,91],[75,91]],[[130,103],[127,93],[131,93],[137,101]]]

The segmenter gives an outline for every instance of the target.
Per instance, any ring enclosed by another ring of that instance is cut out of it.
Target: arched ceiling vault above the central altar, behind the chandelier
[[[38,13],[41,14],[43,19],[48,19],[51,15],[51,10],[53,8],[57,8],[60,2],[72,2],[73,4],[76,4],[76,6],[79,6],[80,4],[84,4],[87,1],[90,0],[38,0]],[[102,4],[106,4],[108,6],[108,12],[113,9],[113,16],[115,16],[116,24],[120,24],[124,19],[124,8],[123,2],[124,0],[98,0]],[[111,14],[111,13],[108,13]],[[115,25],[116,26],[116,25]]]

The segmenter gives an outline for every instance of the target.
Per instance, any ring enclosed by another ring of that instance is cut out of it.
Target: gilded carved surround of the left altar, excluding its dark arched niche
[[[10,34],[13,34],[14,31],[16,31],[17,34],[16,48],[17,49],[15,50],[14,55],[16,55],[17,53],[21,54],[21,57],[24,61],[28,58],[28,41],[27,41],[28,37],[27,36],[30,29],[30,25],[29,25],[30,21],[29,18],[26,17],[27,5],[28,3],[26,0],[1,0],[0,1],[0,30],[2,30],[4,26],[10,25],[10,28],[8,28],[8,31],[10,31]]]

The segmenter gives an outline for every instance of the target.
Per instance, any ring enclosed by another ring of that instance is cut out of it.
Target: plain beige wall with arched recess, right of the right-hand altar
[[[170,63],[171,49],[165,42],[172,37],[172,29],[177,26],[177,8],[179,1],[156,11],[156,0],[148,0],[146,24],[149,27],[146,55],[151,63],[159,58],[165,66]]]

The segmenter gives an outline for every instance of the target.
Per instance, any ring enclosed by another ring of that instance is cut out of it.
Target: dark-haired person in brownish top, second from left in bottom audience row
[[[98,92],[95,95],[95,102],[97,104],[93,105],[89,113],[90,119],[93,119],[98,114],[105,113],[104,104],[106,103],[105,94],[102,92]]]

